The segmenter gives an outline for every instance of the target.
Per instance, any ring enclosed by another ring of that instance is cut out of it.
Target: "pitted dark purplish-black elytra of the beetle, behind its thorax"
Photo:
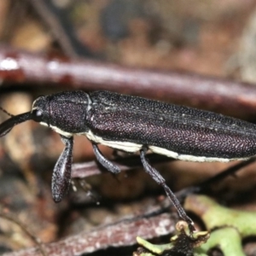
[[[195,156],[256,154],[256,125],[217,113],[108,91],[90,93],[90,130],[105,140],[157,146]]]

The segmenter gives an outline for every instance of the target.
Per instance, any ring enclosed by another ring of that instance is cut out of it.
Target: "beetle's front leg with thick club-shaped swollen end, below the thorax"
[[[51,181],[52,197],[55,203],[60,202],[67,194],[72,170],[73,137],[61,136],[61,141],[65,144],[65,148],[55,164]]]

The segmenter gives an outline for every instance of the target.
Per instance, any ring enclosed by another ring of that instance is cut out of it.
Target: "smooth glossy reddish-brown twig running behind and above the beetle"
[[[191,73],[121,67],[96,61],[34,55],[1,47],[3,82],[63,84],[73,89],[114,90],[254,119],[256,86]]]

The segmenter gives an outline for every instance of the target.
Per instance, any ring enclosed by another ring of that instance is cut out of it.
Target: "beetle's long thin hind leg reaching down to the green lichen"
[[[189,224],[189,230],[193,232],[195,230],[194,223],[191,218],[186,214],[183,207],[181,206],[180,202],[177,200],[176,195],[172,192],[172,190],[166,185],[166,180],[164,177],[160,175],[158,171],[154,169],[154,167],[150,166],[147,158],[146,158],[146,152],[148,151],[148,148],[143,147],[140,151],[141,160],[143,163],[143,167],[145,171],[154,179],[154,181],[158,184],[160,184],[165,190],[166,195],[169,197],[169,199],[172,201],[172,204],[177,209],[177,214],[179,218],[183,219]]]

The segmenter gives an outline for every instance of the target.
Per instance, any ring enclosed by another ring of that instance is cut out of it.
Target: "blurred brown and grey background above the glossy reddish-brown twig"
[[[255,59],[253,0],[3,0],[0,4],[3,44],[255,81],[247,70]]]

